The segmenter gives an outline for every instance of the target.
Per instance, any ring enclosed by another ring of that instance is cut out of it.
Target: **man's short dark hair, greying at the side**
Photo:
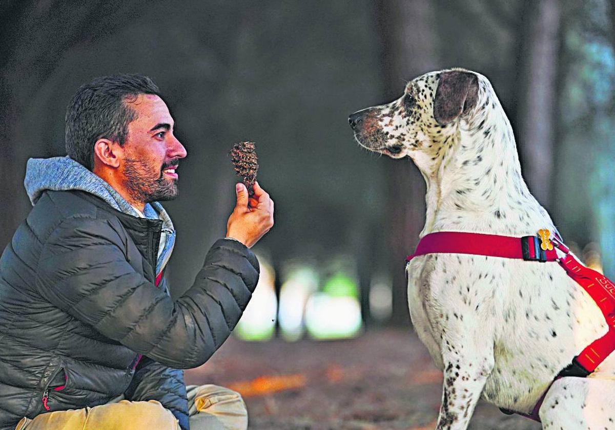
[[[89,170],[94,168],[94,144],[100,138],[124,145],[128,125],[137,117],[125,102],[139,94],[160,95],[147,76],[101,76],[82,85],[66,108],[66,152]]]

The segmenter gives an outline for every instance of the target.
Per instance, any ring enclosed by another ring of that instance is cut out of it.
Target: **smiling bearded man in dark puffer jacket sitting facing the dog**
[[[186,157],[173,125],[148,77],[100,77],[68,106],[68,157],[28,162],[34,207],[0,258],[1,429],[247,427],[239,394],[186,393],[176,369],[207,361],[242,315],[259,270],[248,248],[274,204],[237,184],[226,238],[173,301],[175,230],[158,203]]]

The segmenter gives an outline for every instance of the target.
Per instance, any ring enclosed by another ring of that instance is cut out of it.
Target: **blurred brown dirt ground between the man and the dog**
[[[442,373],[408,330],[374,330],[352,340],[288,343],[230,338],[212,359],[186,371],[187,384],[243,394],[250,429],[433,429]],[[470,429],[538,430],[520,416],[478,404]]]

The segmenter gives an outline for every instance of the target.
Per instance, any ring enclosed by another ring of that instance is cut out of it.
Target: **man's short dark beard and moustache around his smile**
[[[160,172],[153,171],[141,160],[127,158],[124,164],[125,187],[133,201],[167,201],[177,197],[177,179],[165,178],[164,169],[177,166],[177,160],[162,165]]]

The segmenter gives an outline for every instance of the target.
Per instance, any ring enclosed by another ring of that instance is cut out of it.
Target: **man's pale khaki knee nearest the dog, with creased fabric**
[[[211,384],[189,387],[188,401],[191,428],[244,430],[248,426],[244,399],[232,389]]]

